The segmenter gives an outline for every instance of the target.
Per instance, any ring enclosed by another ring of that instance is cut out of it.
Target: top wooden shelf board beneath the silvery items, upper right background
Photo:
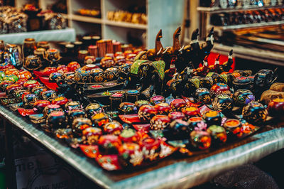
[[[209,12],[209,13],[229,13],[235,11],[251,11],[251,10],[263,10],[263,9],[270,9],[270,8],[284,8],[284,5],[281,6],[241,6],[241,7],[229,7],[227,9],[221,9],[219,7],[203,7],[198,6],[197,11],[200,12]]]

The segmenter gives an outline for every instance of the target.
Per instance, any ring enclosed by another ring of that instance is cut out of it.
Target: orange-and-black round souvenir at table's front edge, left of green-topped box
[[[206,131],[192,131],[190,142],[195,148],[205,150],[211,146],[211,136]]]

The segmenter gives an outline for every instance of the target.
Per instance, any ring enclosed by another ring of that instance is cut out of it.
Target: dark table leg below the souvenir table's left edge
[[[7,188],[16,189],[16,169],[15,169],[15,158],[13,156],[13,139],[12,139],[12,126],[3,120],[4,131],[5,131],[5,168],[6,168],[6,186]]]

